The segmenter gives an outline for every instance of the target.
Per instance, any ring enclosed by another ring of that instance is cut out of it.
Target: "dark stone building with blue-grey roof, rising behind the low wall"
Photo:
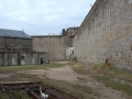
[[[32,37],[23,31],[0,29],[0,51],[32,51]]]

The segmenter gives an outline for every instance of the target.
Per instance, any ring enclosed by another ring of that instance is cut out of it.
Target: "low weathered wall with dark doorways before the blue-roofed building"
[[[46,52],[0,52],[0,66],[38,65],[44,63],[48,63]]]

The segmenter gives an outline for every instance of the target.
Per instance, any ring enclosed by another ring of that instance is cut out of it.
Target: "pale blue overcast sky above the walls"
[[[61,34],[79,26],[96,0],[0,0],[0,29],[29,35]]]

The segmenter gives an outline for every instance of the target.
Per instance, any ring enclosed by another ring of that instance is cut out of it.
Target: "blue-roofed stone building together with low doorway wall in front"
[[[33,52],[32,37],[23,31],[0,29],[0,66],[48,63],[47,52]]]

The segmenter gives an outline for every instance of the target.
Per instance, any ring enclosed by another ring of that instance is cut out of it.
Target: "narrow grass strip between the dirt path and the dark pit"
[[[18,74],[19,75],[19,74]],[[96,96],[97,94],[94,91],[88,86],[85,85],[79,85],[79,84],[70,84],[64,80],[55,80],[55,79],[50,79],[50,78],[38,78],[35,75],[25,75],[25,74],[20,74],[20,77],[25,77],[32,79],[33,81],[42,81],[44,87],[55,87],[57,89],[61,89],[65,92],[68,92],[70,95],[74,95],[78,97],[78,99],[86,99],[86,95],[94,95]]]

